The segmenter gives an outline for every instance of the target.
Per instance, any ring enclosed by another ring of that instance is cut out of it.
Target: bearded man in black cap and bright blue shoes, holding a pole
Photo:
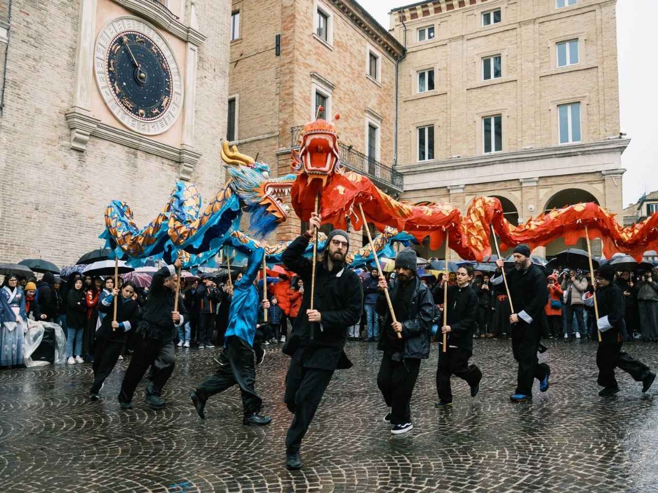
[[[548,390],[548,377],[551,369],[539,362],[537,351],[542,335],[542,312],[548,300],[548,288],[544,273],[532,264],[530,248],[521,244],[514,249],[514,268],[507,272],[507,285],[515,312],[509,316],[512,330],[512,352],[519,362],[517,390],[510,399],[512,402],[532,400],[532,383],[540,381],[540,390]],[[501,270],[503,260],[496,260],[498,270],[492,279],[493,285],[503,283]]]

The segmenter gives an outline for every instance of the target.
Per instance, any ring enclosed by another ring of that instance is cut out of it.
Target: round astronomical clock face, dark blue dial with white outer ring
[[[183,85],[164,38],[139,18],[120,17],[105,25],[95,48],[96,82],[114,116],[145,135],[169,129],[180,115]]]

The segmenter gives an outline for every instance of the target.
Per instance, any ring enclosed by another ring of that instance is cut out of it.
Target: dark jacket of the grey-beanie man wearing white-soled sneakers
[[[402,357],[424,360],[430,357],[430,334],[432,333],[432,318],[434,317],[434,299],[432,298],[430,289],[418,277],[415,278],[415,281],[416,287],[411,298],[409,318],[407,320],[398,320],[402,323],[402,339],[405,341]],[[397,284],[397,279],[392,279],[388,283],[388,294],[391,300],[395,300],[395,296],[397,296]],[[376,310],[378,314],[384,317],[385,324],[390,323],[388,303],[383,293],[380,293],[377,297]],[[386,330],[380,330],[379,334],[377,348],[380,351],[384,351]]]

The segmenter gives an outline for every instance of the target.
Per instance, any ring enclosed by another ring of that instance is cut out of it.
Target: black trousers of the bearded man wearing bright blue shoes
[[[537,358],[541,331],[540,323],[519,322],[512,325],[512,354],[519,362],[517,394],[532,396],[534,379],[542,381],[549,371],[548,365],[540,363]]]

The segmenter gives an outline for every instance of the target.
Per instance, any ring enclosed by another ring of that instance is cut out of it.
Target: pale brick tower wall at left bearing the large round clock
[[[228,0],[0,0],[0,261],[70,264],[110,200],[142,226],[177,179],[215,195],[229,27]]]

